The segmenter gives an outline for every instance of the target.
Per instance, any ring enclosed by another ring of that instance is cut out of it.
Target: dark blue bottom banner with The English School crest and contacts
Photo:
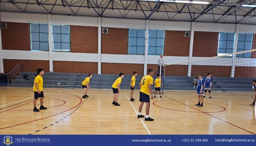
[[[256,145],[255,135],[0,135],[0,146],[242,146]]]

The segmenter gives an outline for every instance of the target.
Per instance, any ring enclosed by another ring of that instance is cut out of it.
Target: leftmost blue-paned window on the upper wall
[[[30,23],[31,50],[49,51],[48,24]]]

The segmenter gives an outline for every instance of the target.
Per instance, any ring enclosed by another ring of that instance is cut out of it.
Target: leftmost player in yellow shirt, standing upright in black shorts
[[[43,92],[43,78],[42,75],[45,74],[44,69],[37,69],[37,73],[38,75],[35,77],[35,81],[34,81],[34,87],[33,87],[33,91],[34,91],[34,100],[33,100],[33,104],[34,104],[34,112],[39,112],[40,110],[46,110],[47,107],[44,107],[43,103],[44,103],[44,92]],[[40,99],[40,110],[37,109],[37,99]]]

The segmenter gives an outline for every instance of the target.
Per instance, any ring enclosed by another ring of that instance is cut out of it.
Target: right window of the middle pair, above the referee
[[[164,30],[148,30],[148,55],[163,54]]]

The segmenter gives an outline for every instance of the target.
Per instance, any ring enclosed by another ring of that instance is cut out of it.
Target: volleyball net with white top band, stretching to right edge
[[[256,49],[164,65],[165,78],[192,80],[212,74],[216,82],[248,82],[256,78]]]

